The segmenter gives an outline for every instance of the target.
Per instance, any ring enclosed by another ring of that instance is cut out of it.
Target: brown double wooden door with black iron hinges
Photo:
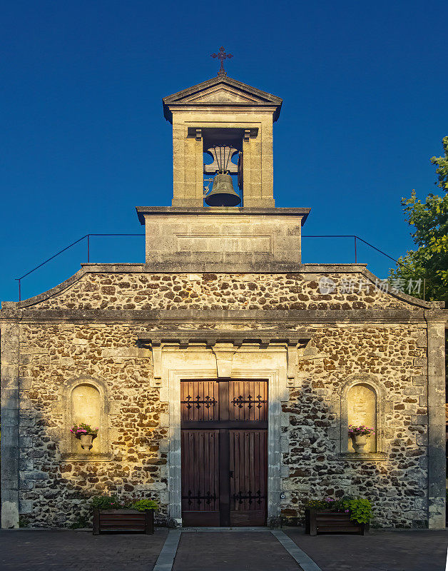
[[[268,383],[180,383],[183,525],[265,525]]]

